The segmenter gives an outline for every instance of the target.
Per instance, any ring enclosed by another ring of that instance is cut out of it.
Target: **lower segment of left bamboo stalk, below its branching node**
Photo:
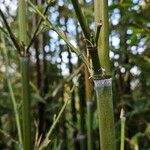
[[[23,146],[24,150],[31,150],[31,120],[30,120],[30,89],[29,89],[29,58],[21,57],[21,75],[23,89]]]

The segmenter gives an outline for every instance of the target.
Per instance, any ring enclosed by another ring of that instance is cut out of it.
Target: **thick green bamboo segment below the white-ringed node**
[[[112,103],[112,79],[94,80],[101,150],[115,150],[115,126]]]

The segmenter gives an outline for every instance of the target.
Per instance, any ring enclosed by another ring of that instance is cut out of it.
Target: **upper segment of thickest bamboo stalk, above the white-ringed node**
[[[94,0],[95,22],[102,21],[101,32],[98,41],[98,54],[100,64],[106,73],[110,74],[109,62],[109,22],[108,0]]]

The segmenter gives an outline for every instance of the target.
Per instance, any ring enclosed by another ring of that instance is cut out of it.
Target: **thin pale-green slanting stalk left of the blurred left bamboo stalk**
[[[9,93],[10,93],[10,96],[11,96],[13,109],[14,109],[14,113],[15,113],[15,120],[16,120],[16,126],[17,126],[17,131],[18,131],[19,144],[22,147],[22,133],[21,133],[19,113],[18,113],[18,109],[17,109],[17,102],[16,102],[15,95],[14,95],[14,92],[13,92],[12,84],[11,84],[11,81],[10,81],[10,76],[9,76],[9,73],[8,73],[9,60],[8,60],[8,55],[7,55],[7,51],[6,51],[6,47],[5,47],[5,40],[4,40],[3,35],[2,35],[2,41],[3,41],[3,44],[4,44],[3,52],[4,52],[4,59],[5,59],[5,64],[6,64],[7,84],[8,84]]]

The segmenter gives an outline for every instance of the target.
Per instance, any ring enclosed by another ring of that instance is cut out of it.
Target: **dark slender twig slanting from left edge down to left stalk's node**
[[[7,29],[8,33],[9,33],[9,36],[10,36],[10,38],[11,38],[11,40],[12,40],[14,46],[16,47],[18,53],[21,54],[21,50],[20,50],[20,46],[19,46],[19,44],[18,44],[18,41],[17,41],[15,35],[13,34],[13,32],[12,32],[12,30],[11,30],[11,28],[10,28],[10,26],[9,26],[9,24],[8,24],[8,22],[7,22],[7,20],[6,20],[6,18],[5,18],[5,15],[4,15],[3,12],[1,11],[1,9],[0,9],[0,16],[1,16],[1,18],[3,19],[3,22],[4,22],[5,26],[6,26],[6,29]]]

